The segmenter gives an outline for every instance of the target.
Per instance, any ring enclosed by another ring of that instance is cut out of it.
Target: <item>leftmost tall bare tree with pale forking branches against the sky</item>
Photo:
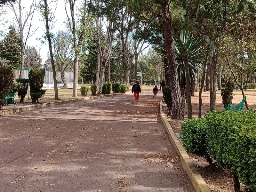
[[[23,15],[23,6],[21,3],[22,0],[16,0],[16,4],[11,2],[11,10],[14,12],[15,20],[18,24],[19,28],[19,34],[20,34],[20,68],[24,69],[25,67],[25,61],[24,61],[24,53],[25,53],[25,47],[27,44],[27,40],[29,37],[31,37],[34,32],[30,32],[31,26],[32,26],[32,19],[34,16],[34,12],[37,8],[37,5],[35,1],[33,0],[32,3],[29,6],[29,10]],[[23,1],[24,2],[24,1]],[[17,6],[18,5],[18,6]],[[18,8],[18,9],[17,9]],[[24,18],[24,21],[22,20]],[[25,29],[26,28],[26,29]],[[23,77],[23,71],[20,71],[20,78]]]

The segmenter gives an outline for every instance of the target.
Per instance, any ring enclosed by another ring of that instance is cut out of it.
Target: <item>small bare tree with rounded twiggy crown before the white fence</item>
[[[58,31],[53,43],[54,60],[60,71],[60,77],[63,82],[63,89],[66,89],[67,81],[65,79],[65,72],[71,68],[74,57],[74,49],[72,46],[72,35],[65,31]]]

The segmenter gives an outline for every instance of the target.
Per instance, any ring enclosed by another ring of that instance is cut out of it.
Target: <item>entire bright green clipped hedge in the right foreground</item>
[[[216,111],[204,119],[189,119],[181,126],[183,145],[210,164],[213,157],[216,165],[230,169],[246,185],[247,192],[256,191],[255,116],[256,111]]]

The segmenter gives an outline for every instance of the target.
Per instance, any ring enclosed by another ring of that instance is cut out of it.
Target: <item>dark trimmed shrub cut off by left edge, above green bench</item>
[[[13,73],[12,68],[0,68],[0,99],[4,99],[13,83]]]

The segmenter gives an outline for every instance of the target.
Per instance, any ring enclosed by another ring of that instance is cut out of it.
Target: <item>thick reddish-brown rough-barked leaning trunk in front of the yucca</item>
[[[167,61],[169,66],[169,78],[170,78],[171,92],[172,92],[172,118],[184,119],[169,1],[167,2],[165,0],[161,2],[161,11],[163,13],[162,28],[164,31],[164,44],[165,44]]]

